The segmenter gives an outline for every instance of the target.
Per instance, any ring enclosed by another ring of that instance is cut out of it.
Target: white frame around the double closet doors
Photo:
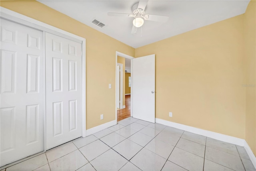
[[[43,31],[43,35],[44,35],[43,39],[45,38],[45,32],[49,32],[49,33],[53,33],[55,35],[59,35],[61,37],[65,37],[67,39],[71,39],[73,41],[82,43],[82,137],[86,137],[86,39],[84,37],[80,37],[73,33],[69,33],[62,29],[56,28],[54,26],[50,26],[49,24],[45,24],[43,22],[40,22],[38,20],[24,16],[22,14],[19,14],[12,10],[8,10],[3,7],[0,7],[0,17],[6,20],[10,20],[12,22],[16,22],[18,24],[22,24],[24,26],[28,26],[30,28]],[[45,56],[44,56],[44,66],[45,66]],[[44,69],[44,79],[45,79],[45,69]],[[44,89],[45,89],[45,81],[44,81]],[[44,99],[44,131],[46,126],[45,116],[46,116],[46,112],[45,112],[45,99]],[[44,147],[46,149],[45,142],[44,142]]]

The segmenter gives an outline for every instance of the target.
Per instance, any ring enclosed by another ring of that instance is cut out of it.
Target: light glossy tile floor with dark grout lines
[[[126,118],[1,171],[255,171],[244,147]]]

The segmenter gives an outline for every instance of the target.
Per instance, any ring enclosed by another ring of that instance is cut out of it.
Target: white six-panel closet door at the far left
[[[43,33],[0,19],[1,166],[44,150]]]

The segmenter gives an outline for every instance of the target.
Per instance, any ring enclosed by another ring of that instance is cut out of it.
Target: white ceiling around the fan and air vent
[[[138,0],[39,0],[39,2],[78,20],[134,48],[243,14],[249,0],[149,0],[146,14],[169,16],[166,23],[145,21],[132,35],[133,18],[112,17],[108,12],[132,13]],[[92,23],[96,19],[106,26]]]

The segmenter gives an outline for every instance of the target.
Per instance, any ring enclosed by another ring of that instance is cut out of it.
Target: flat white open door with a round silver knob
[[[132,61],[133,117],[155,123],[155,55]]]

